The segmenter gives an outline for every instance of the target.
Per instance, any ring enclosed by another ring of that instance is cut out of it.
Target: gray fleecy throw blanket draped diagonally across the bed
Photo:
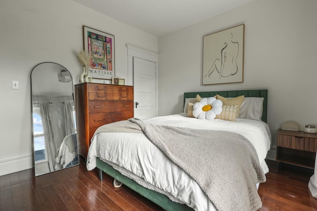
[[[133,118],[99,127],[100,132],[144,133],[187,172],[218,211],[257,211],[256,187],[266,181],[257,152],[244,136],[228,131],[159,126]]]

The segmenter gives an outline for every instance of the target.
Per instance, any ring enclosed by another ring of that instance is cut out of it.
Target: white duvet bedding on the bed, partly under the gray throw
[[[198,120],[186,113],[144,120],[157,125],[232,131],[244,135],[254,145],[264,173],[264,161],[270,147],[271,135],[262,121],[237,119]],[[119,147],[118,147],[119,146]],[[233,146],[234,148],[234,146]],[[131,150],[132,149],[132,150]],[[199,185],[170,160],[142,133],[99,133],[93,137],[88,152],[87,169],[96,167],[96,157],[114,169],[158,192],[164,191],[171,200],[188,205],[197,211],[215,211],[213,204]],[[225,167],[224,167],[225,168]],[[134,175],[130,175],[133,172]],[[159,188],[159,189],[158,189]]]

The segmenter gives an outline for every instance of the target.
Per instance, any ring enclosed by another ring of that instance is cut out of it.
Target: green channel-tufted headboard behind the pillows
[[[262,121],[267,123],[267,89],[252,89],[252,90],[232,90],[232,91],[196,91],[196,92],[185,92],[184,93],[184,104],[185,98],[195,98],[199,94],[201,97],[213,97],[219,94],[223,97],[238,97],[244,95],[245,97],[263,97],[263,114]]]

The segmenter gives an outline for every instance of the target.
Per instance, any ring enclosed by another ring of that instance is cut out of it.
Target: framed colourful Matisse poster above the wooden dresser
[[[93,79],[111,80],[115,76],[114,36],[83,26],[84,50],[91,53],[89,74]]]

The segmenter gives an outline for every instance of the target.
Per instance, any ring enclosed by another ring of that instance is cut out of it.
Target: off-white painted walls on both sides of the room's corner
[[[71,0],[0,3],[0,175],[32,161],[30,73],[44,61],[66,67],[78,83],[82,26],[115,36],[116,75],[127,78],[125,44],[159,52],[159,115],[179,113],[183,92],[268,89],[268,125],[317,125],[317,1],[256,0],[158,39]],[[245,24],[244,83],[202,85],[203,36]],[[20,89],[11,89],[19,81]]]

